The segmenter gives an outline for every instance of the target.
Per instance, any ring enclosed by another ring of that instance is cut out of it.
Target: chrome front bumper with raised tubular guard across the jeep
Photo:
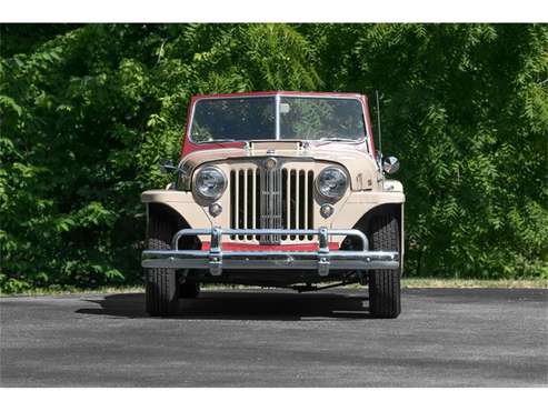
[[[223,235],[313,235],[318,239],[318,251],[222,251]],[[183,235],[210,235],[209,250],[179,250],[178,243]],[[359,251],[330,251],[330,235],[351,235],[361,239]],[[328,275],[329,270],[375,270],[397,269],[399,254],[397,251],[369,251],[367,237],[358,230],[232,230],[212,228],[185,229],[178,231],[171,241],[171,250],[145,250],[143,268],[167,269],[209,269],[211,275],[220,275],[223,269],[292,269],[317,270],[319,275]]]

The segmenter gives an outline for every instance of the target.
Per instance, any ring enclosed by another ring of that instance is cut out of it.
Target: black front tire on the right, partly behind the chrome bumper
[[[376,217],[370,223],[371,250],[399,251],[399,227],[393,215]],[[369,273],[369,311],[376,318],[397,318],[401,312],[400,272],[372,270]]]

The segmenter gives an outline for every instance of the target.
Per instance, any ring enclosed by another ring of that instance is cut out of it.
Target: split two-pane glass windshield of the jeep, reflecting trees
[[[281,96],[278,103],[276,96],[201,99],[190,129],[196,142],[365,137],[361,103],[351,98]]]

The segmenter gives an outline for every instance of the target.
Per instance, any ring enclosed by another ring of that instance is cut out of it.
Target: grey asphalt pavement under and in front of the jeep
[[[548,387],[548,290],[209,291],[0,299],[2,387]]]

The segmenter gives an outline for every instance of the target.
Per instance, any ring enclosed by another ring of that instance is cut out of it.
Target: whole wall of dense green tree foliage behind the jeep
[[[408,274],[548,277],[548,27],[3,24],[0,284],[140,280],[190,96],[381,91]],[[371,104],[372,106],[372,104]]]

